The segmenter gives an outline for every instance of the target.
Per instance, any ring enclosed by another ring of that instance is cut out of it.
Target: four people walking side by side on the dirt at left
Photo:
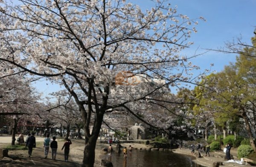
[[[34,135],[35,135],[34,132],[32,132],[31,134],[29,133],[25,139],[26,147],[28,147],[29,157],[32,155],[33,148],[36,147]],[[64,143],[63,147],[61,148],[61,150],[64,149],[64,159],[66,162],[68,161],[68,157],[69,157],[70,144],[72,144],[71,140],[67,139],[67,141]],[[57,155],[57,148],[58,148],[58,142],[56,141],[56,137],[53,136],[51,139],[49,138],[49,134],[47,134],[46,138],[44,138],[43,147],[44,147],[44,158],[47,158],[47,155],[49,153],[49,148],[51,148],[52,159],[55,160]]]

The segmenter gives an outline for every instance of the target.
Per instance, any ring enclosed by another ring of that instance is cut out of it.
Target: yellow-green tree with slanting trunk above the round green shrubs
[[[252,38],[252,45],[239,43],[243,49],[233,48],[239,53],[235,64],[226,66],[222,72],[215,75],[216,107],[221,110],[216,112],[215,121],[226,124],[236,117],[243,119],[250,144],[256,150],[255,120],[256,120],[256,37]],[[231,49],[231,45],[229,45]],[[235,45],[234,45],[235,46]]]

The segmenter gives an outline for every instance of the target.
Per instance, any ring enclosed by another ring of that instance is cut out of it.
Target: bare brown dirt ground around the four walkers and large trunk
[[[84,155],[84,140],[83,139],[72,139],[72,144],[70,145],[69,161],[64,161],[64,150],[61,148],[64,144],[63,139],[57,139],[58,150],[56,160],[52,160],[52,151],[49,149],[47,159],[44,158],[44,138],[36,136],[36,148],[33,148],[32,156],[28,156],[28,150],[9,150],[8,155],[10,158],[15,157],[12,162],[0,162],[0,167],[80,167],[83,155]],[[10,136],[0,136],[0,148],[10,145]],[[100,144],[97,142],[95,150],[95,165],[94,167],[100,167],[101,156],[104,154],[103,148],[107,148],[108,144]]]

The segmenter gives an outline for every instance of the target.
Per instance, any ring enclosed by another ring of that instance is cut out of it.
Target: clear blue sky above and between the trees
[[[143,9],[151,8],[150,0],[131,0]],[[168,0],[174,7],[177,5],[178,14],[186,14],[189,18],[204,17],[207,21],[199,21],[196,26],[198,32],[192,34],[190,41],[194,45],[184,50],[183,54],[193,55],[205,52],[206,49],[218,49],[227,41],[242,37],[244,42],[250,44],[250,38],[254,36],[256,26],[256,0]],[[211,68],[212,71],[220,72],[225,65],[236,61],[236,55],[220,52],[207,52],[193,60],[193,64],[201,67],[198,73]],[[210,67],[213,63],[214,66]],[[59,89],[59,86],[45,82],[37,83],[38,89],[48,92]]]

